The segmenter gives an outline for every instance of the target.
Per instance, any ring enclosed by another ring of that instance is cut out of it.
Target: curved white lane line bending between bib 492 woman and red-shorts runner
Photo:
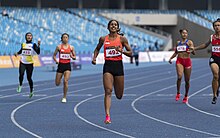
[[[207,75],[208,75],[208,74],[206,74],[206,75],[201,75],[200,77],[191,79],[191,81],[196,80],[196,79],[199,79],[199,78],[202,78],[202,77],[205,77],[205,76],[207,76]],[[154,121],[157,121],[157,122],[160,122],[160,123],[163,123],[163,124],[167,124],[167,125],[174,126],[174,127],[177,127],[177,128],[182,128],[182,129],[186,129],[186,130],[190,130],[190,131],[194,131],[194,132],[198,132],[198,133],[202,133],[202,134],[206,134],[206,135],[210,135],[210,136],[220,136],[219,134],[209,133],[209,132],[205,132],[205,131],[197,130],[197,129],[194,129],[194,128],[185,127],[185,126],[181,126],[181,125],[177,125],[177,124],[173,124],[173,123],[169,123],[169,122],[167,122],[167,121],[163,121],[163,120],[157,119],[157,118],[155,118],[155,117],[152,117],[152,116],[149,116],[149,115],[147,115],[147,114],[142,113],[141,111],[139,111],[139,110],[135,107],[135,103],[136,103],[137,101],[139,101],[140,99],[142,99],[142,98],[144,98],[144,97],[147,97],[147,96],[149,96],[149,95],[152,95],[152,94],[155,94],[155,93],[164,91],[164,90],[166,90],[166,89],[175,87],[175,86],[176,86],[176,85],[172,85],[172,86],[169,86],[169,87],[166,87],[166,88],[163,88],[163,89],[160,89],[160,90],[157,90],[157,91],[154,91],[154,92],[151,92],[151,93],[148,93],[148,94],[145,94],[145,95],[142,95],[142,96],[136,98],[136,99],[131,103],[131,106],[132,106],[133,110],[136,111],[138,114],[144,116],[144,117],[150,118],[150,119],[152,119],[152,120],[154,120]]]

